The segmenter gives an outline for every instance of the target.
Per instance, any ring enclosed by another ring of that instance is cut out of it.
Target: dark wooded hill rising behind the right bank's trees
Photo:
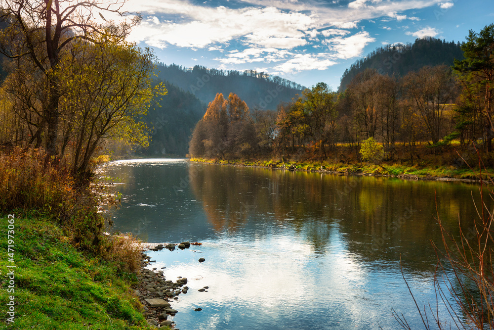
[[[365,69],[376,69],[380,74],[403,77],[425,65],[453,65],[455,58],[463,59],[459,42],[446,42],[431,37],[416,39],[413,44],[379,47],[345,71],[338,91],[345,91],[352,79]]]

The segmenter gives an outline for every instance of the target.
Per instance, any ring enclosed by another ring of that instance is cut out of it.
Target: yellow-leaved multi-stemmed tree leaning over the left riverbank
[[[59,100],[64,128],[59,134],[63,156],[71,144],[74,174],[87,172],[89,161],[105,140],[124,139],[147,146],[147,114],[154,96],[166,94],[162,84],[151,88],[154,56],[133,44],[76,42],[63,59],[66,94]]]

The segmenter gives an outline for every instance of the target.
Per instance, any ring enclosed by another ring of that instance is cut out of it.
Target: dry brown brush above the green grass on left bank
[[[64,160],[42,149],[14,148],[0,153],[0,163],[0,213],[37,211],[60,225],[76,247],[113,258],[108,253],[113,242],[103,235],[105,222],[98,213],[105,191],[77,185]]]

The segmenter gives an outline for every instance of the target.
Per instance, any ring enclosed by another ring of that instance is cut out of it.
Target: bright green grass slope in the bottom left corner
[[[34,213],[15,219],[15,293],[7,293],[7,217],[0,217],[0,329],[153,329],[130,285],[135,275],[88,257],[67,242],[61,228]],[[8,296],[15,323],[6,323]],[[154,328],[156,329],[156,328]]]

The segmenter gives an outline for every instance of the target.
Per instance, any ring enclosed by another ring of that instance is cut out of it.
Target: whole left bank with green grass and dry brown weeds
[[[116,202],[105,185],[42,149],[0,152],[0,164],[0,329],[153,329],[132,289],[137,241],[104,235],[98,207]]]

